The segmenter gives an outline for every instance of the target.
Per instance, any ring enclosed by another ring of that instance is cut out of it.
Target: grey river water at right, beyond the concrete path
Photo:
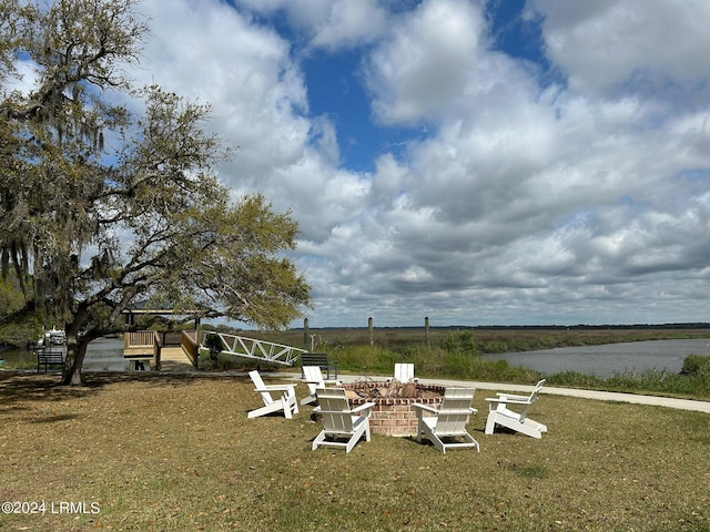
[[[559,347],[535,351],[483,355],[483,358],[486,360],[504,359],[510,366],[523,366],[545,375],[577,371],[606,378],[615,372],[641,372],[648,369],[679,372],[683,359],[691,354],[710,355],[710,338]]]

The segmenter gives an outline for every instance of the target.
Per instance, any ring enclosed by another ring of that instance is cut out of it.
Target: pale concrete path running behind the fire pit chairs
[[[301,374],[277,374],[280,376],[288,375],[290,377],[301,380]],[[362,375],[338,375],[338,380],[342,382],[357,382],[362,380],[383,380],[386,377],[383,376],[362,376]],[[449,380],[449,379],[422,379],[418,381],[423,385],[439,385],[439,386],[475,386],[478,390],[491,390],[491,391],[515,391],[519,393],[530,393],[534,386],[526,385],[501,385],[495,382],[474,382],[463,380]],[[555,388],[546,386],[540,393],[549,393],[552,396],[567,396],[579,397],[582,399],[595,399],[599,401],[618,401],[630,402],[635,405],[650,405],[656,407],[669,407],[680,410],[694,410],[698,412],[710,413],[710,402],[696,401],[690,399],[674,399],[671,397],[658,397],[658,396],[638,396],[635,393],[619,393],[613,391],[597,391],[597,390],[579,390],[576,388]]]

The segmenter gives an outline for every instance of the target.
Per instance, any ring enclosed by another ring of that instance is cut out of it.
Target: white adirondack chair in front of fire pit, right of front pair
[[[428,405],[412,405],[417,410],[417,442],[422,442],[422,432],[434,446],[446,453],[447,449],[474,447],[480,451],[478,442],[466,431],[466,423],[471,413],[475,388],[447,388],[442,407],[437,410]],[[434,416],[424,416],[425,412]]]

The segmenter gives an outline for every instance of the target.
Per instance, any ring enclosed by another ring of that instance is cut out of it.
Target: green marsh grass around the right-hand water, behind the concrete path
[[[423,328],[375,329],[369,344],[367,329],[315,329],[316,350],[328,352],[345,372],[388,375],[396,362],[414,362],[418,377],[453,378],[491,382],[534,383],[540,378],[548,385],[611,391],[668,395],[681,398],[710,398],[709,357],[691,355],[686,375],[649,370],[625,371],[610,378],[565,371],[542,375],[505,360],[481,359],[481,352],[529,350],[562,346],[659,340],[671,338],[707,338],[708,328],[432,328],[429,346]],[[272,341],[297,346],[303,330],[254,332]]]

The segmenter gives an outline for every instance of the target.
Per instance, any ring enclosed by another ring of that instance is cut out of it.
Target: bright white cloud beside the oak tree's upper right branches
[[[273,168],[298,164],[312,124],[287,41],[226,3],[153,0],[141,9],[152,38],[140,81],[211,103],[212,125],[240,146],[222,171],[229,185],[254,188]]]

